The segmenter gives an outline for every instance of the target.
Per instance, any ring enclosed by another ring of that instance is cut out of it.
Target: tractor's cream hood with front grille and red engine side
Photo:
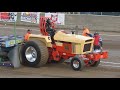
[[[58,31],[54,39],[56,41],[56,46],[61,48],[61,50],[63,50],[62,52],[71,54],[87,54],[92,52],[94,39],[91,37],[66,34],[62,31]]]

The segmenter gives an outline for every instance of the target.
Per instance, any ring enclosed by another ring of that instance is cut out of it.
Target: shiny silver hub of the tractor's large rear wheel
[[[34,47],[30,46],[26,49],[25,56],[29,62],[34,62],[37,59],[37,51]]]

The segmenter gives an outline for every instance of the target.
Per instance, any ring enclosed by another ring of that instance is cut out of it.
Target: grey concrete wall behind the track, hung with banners
[[[20,21],[21,13],[18,12],[17,23],[19,26],[33,26],[38,27],[38,24],[26,23]],[[44,13],[41,13],[40,16],[44,16]],[[4,24],[4,22],[0,22]],[[7,22],[6,24],[12,25],[14,23]],[[79,29],[82,29],[83,26],[87,26],[90,30],[95,31],[111,31],[111,32],[120,32],[120,16],[99,16],[99,15],[65,15],[65,25],[57,25],[59,29],[74,29],[78,25]]]

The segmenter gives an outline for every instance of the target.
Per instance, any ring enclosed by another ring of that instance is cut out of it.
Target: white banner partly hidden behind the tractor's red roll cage
[[[57,25],[65,25],[65,14],[62,13],[45,13],[45,17],[51,18]]]

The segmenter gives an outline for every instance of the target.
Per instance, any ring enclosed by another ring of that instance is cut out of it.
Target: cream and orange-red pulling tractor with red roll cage
[[[28,67],[41,67],[47,63],[67,62],[75,71],[85,66],[97,67],[101,59],[108,58],[108,52],[93,52],[94,38],[67,33],[65,30],[55,32],[54,43],[46,29],[47,17],[40,17],[40,34],[30,34],[20,50],[21,64]],[[55,23],[51,22],[55,29]]]

